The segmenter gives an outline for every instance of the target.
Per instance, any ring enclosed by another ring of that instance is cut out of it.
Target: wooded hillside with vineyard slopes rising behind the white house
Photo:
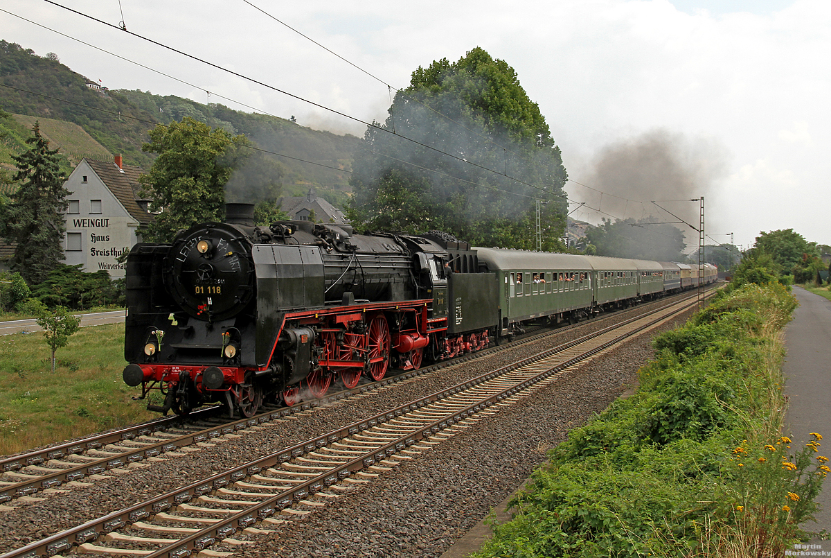
[[[125,163],[145,169],[150,169],[155,157],[141,151],[142,144],[150,140],[148,131],[156,123],[167,124],[191,116],[210,126],[221,126],[232,134],[243,134],[262,150],[318,164],[258,151],[251,161],[255,167],[253,172],[236,181],[232,178],[229,187],[232,198],[235,184],[242,181],[249,192],[263,197],[303,195],[314,188],[318,195],[335,205],[343,206],[347,200],[349,174],[342,170],[352,168],[352,154],[359,145],[355,136],[337,136],[275,116],[234,111],[214,103],[207,106],[177,96],[154,95],[150,91],[98,90],[88,85],[91,81],[86,77],[61,64],[59,57],[60,53],[40,57],[31,49],[0,40],[0,109],[14,115],[72,122],[111,155],[120,153]],[[22,125],[32,119],[3,120],[5,131],[14,129],[14,133],[0,140],[0,164],[7,166],[9,154],[22,151],[20,140],[26,136]],[[61,126],[52,127],[57,130]],[[85,144],[83,134],[73,136],[71,126],[65,127],[66,133],[61,139],[50,138],[52,147],[60,146],[61,151],[70,155],[70,160],[76,156],[101,158],[98,149],[92,150],[95,153],[78,153],[78,149],[86,149],[73,147]],[[252,185],[252,180],[263,181],[263,185]]]

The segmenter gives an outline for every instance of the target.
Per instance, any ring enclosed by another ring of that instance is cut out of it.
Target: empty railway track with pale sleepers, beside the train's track
[[[603,328],[520,363],[391,407],[175,491],[101,516],[0,558],[68,551],[145,556],[224,556],[244,538],[311,513],[351,485],[371,481],[569,367],[695,304],[686,301]]]

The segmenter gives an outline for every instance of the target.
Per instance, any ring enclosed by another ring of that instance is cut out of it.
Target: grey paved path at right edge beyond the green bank
[[[793,435],[794,449],[813,439],[809,432],[819,432],[824,437],[819,455],[831,457],[831,300],[799,287],[794,287],[794,295],[799,308],[785,328],[788,356],[783,369],[789,404],[784,432]],[[821,508],[817,522],[804,527],[831,531],[831,477],[816,501]]]

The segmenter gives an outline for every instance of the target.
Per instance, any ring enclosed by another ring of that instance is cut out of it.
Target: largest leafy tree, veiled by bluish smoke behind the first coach
[[[543,248],[562,247],[559,148],[514,69],[481,48],[413,72],[386,121],[367,128],[363,147],[350,180],[354,224],[533,248],[542,200]]]

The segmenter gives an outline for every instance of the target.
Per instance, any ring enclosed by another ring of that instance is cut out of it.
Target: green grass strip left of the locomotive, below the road
[[[43,333],[0,337],[0,454],[149,420],[121,379],[124,324],[81,328],[51,371]]]

